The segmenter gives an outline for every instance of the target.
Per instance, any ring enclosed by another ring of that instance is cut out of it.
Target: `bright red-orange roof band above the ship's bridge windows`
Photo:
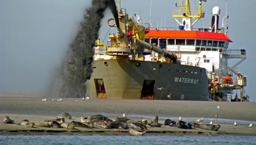
[[[232,42],[227,35],[223,33],[204,32],[204,31],[184,31],[184,30],[146,30],[146,38],[195,38],[195,39],[216,39],[228,40]]]

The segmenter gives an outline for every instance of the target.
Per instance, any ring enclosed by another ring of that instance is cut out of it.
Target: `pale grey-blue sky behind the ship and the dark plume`
[[[198,2],[190,3],[195,1]],[[153,26],[157,26],[157,22],[160,26],[162,20],[162,26],[176,27],[171,17],[176,2],[178,0],[152,0]],[[90,0],[0,0],[0,91],[44,91],[90,3]],[[140,14],[141,21],[148,22],[150,0],[123,0],[121,5],[130,16]],[[211,11],[215,6],[221,8],[220,17],[224,16],[225,0],[208,0],[202,6],[205,18],[195,27],[203,27],[203,23],[205,27],[210,26]],[[256,101],[255,8],[254,0],[228,0],[228,37],[233,40],[229,47],[247,51],[247,58],[238,71],[247,76],[245,89],[251,101]],[[106,24],[109,17],[112,15],[107,10],[99,32],[102,40],[109,30]],[[230,61],[230,66],[237,61],[239,59]]]

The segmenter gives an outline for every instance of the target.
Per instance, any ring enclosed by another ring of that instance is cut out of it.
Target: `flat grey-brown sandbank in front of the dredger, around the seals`
[[[161,128],[148,127],[147,132],[170,132],[170,133],[197,133],[197,134],[252,134],[256,135],[256,129],[247,128],[249,123],[256,123],[256,102],[210,102],[210,101],[168,101],[168,100],[105,100],[81,98],[62,98],[62,101],[41,101],[44,98],[1,96],[0,97],[0,131],[2,132],[65,132],[66,129],[52,128],[25,128],[16,124],[3,124],[4,116],[8,115],[16,123],[23,119],[31,122],[41,122],[45,119],[55,118],[59,113],[68,112],[75,120],[81,116],[90,114],[104,114],[111,119],[121,117],[123,113],[131,119],[149,119],[155,115],[159,116],[159,122],[163,123],[169,118],[177,120],[179,116],[184,121],[193,121],[196,118],[204,117],[203,123],[221,124],[219,131],[207,131],[203,129],[184,130],[175,127],[163,126]],[[59,98],[55,98],[59,99]],[[219,106],[219,108],[217,108]],[[215,118],[218,114],[218,118]],[[70,120],[67,120],[70,121]],[[234,121],[239,125],[234,128]],[[255,124],[256,125],[256,124]],[[104,129],[79,129],[75,132],[127,132],[125,130],[104,130]]]

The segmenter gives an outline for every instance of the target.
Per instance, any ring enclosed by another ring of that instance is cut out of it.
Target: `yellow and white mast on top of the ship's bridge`
[[[189,0],[186,0],[185,5],[183,5],[183,0],[179,0],[179,4],[176,3],[176,7],[178,7],[179,9],[172,11],[172,17],[182,18],[181,22],[179,22],[177,19],[175,19],[180,26],[183,26],[183,28],[180,27],[180,29],[185,29],[185,30],[190,31],[190,30],[192,30],[192,26],[201,17],[204,17],[204,13],[202,13],[202,11],[201,11],[202,1],[206,2],[206,0],[199,0],[198,10],[190,9]],[[195,20],[192,23],[192,18],[197,18],[197,20]]]

